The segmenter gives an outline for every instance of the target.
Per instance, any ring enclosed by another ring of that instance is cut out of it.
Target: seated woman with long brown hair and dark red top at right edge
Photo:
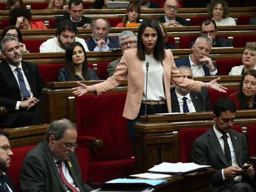
[[[228,98],[236,104],[236,109],[256,109],[256,70],[249,70],[242,76],[239,90]]]

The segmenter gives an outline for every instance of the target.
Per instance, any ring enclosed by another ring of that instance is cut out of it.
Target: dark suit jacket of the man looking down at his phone
[[[233,129],[229,131],[231,141],[234,146],[234,152],[239,167],[242,167],[245,162],[249,162],[247,149],[247,141],[242,133]],[[199,165],[211,165],[217,171],[213,173],[213,192],[221,191],[227,188],[227,185],[232,185],[232,179],[223,180],[221,170],[227,166],[224,152],[221,149],[220,142],[213,128],[199,136],[193,143],[191,160]]]

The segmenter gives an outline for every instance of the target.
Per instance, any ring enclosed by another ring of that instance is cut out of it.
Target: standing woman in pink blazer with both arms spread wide
[[[137,48],[124,51],[112,77],[92,86],[77,82],[79,86],[72,88],[77,96],[82,96],[88,91],[99,95],[116,88],[122,80],[128,78],[123,116],[127,119],[132,144],[135,144],[134,123],[139,122],[141,114],[145,114],[146,84],[147,114],[171,112],[171,81],[181,88],[199,93],[201,88],[226,92],[226,88],[218,85],[219,78],[208,83],[183,78],[174,63],[172,52],[164,50],[162,34],[158,22],[143,20],[138,30]],[[146,83],[147,62],[148,82]]]

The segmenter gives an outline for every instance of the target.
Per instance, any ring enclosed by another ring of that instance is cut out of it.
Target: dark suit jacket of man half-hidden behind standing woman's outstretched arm
[[[190,97],[196,112],[211,111],[210,95],[206,89],[202,89],[201,93],[190,92]],[[181,112],[175,88],[171,89],[171,112]]]

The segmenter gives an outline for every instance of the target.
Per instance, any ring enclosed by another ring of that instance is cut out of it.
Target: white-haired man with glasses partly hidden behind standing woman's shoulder
[[[124,53],[124,51],[127,49],[137,48],[137,36],[132,31],[122,31],[122,33],[119,35],[119,44],[122,53]],[[121,57],[108,64],[108,77],[114,75],[114,70],[116,69],[116,66],[119,64],[120,60]]]

